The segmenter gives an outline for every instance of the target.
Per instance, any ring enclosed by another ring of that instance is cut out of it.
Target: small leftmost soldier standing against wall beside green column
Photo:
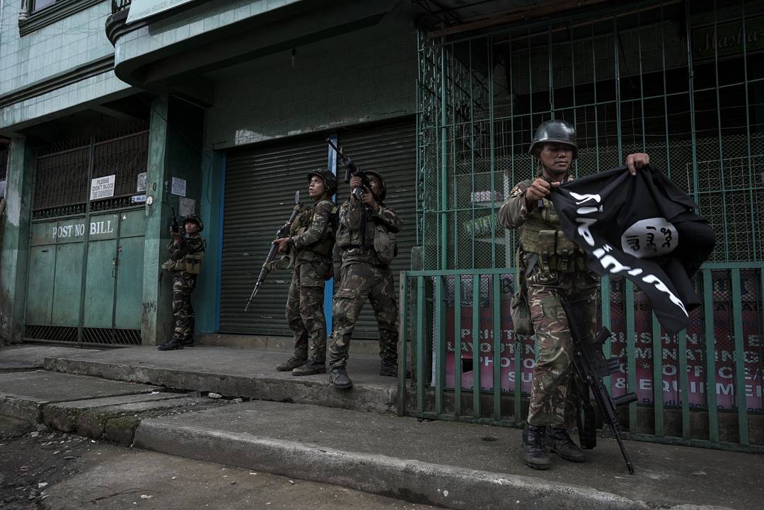
[[[196,276],[202,270],[204,240],[199,232],[204,230],[202,219],[188,215],[183,219],[183,234],[170,229],[173,240],[167,245],[170,260],[163,263],[165,270],[173,273],[173,318],[175,327],[170,341],[160,344],[159,350],[193,347],[194,313],[191,292],[196,286]]]

